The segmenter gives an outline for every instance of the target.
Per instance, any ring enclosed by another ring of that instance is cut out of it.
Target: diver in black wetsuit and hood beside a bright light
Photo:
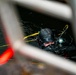
[[[72,39],[70,39],[70,37],[66,39],[64,36],[56,38],[55,33],[51,29],[44,28],[41,29],[37,40],[42,49],[71,60],[76,60],[76,46],[72,44]],[[69,42],[68,39],[70,40]]]

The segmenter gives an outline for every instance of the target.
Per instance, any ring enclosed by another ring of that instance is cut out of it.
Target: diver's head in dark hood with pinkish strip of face
[[[54,34],[49,28],[41,29],[39,34],[39,41],[43,46],[47,47],[54,44]]]

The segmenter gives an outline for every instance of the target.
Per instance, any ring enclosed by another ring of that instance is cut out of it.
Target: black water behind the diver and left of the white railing
[[[23,28],[24,34],[26,33],[26,35],[28,35],[34,32],[38,32],[41,28],[62,30],[63,27],[68,24],[68,33],[72,35],[70,23],[67,21],[53,18],[51,16],[32,11],[19,5],[16,5],[16,7],[20,15],[21,27]],[[2,45],[5,45],[5,41],[3,38],[3,34],[0,31],[0,46]],[[0,54],[4,52],[6,48],[7,47],[0,47]]]

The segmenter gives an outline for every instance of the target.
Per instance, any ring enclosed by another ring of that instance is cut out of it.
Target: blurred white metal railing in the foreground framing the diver
[[[30,56],[31,58],[43,61],[50,65],[54,65],[58,68],[76,74],[76,63],[56,56],[52,53],[49,54],[45,51],[24,44],[23,32],[20,27],[18,16],[16,14],[17,12],[13,6],[13,3],[19,3],[38,12],[69,21],[71,21],[73,17],[72,9],[67,5],[47,0],[0,1],[0,17],[2,21],[2,27],[4,29],[4,35],[8,37],[9,40],[7,42],[15,51],[19,51],[24,55]]]

